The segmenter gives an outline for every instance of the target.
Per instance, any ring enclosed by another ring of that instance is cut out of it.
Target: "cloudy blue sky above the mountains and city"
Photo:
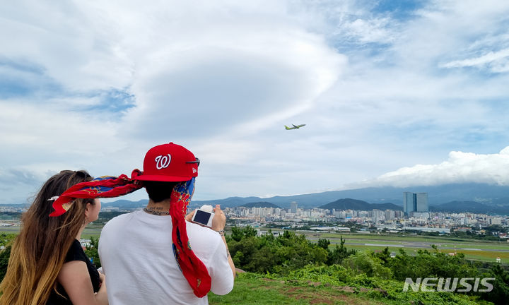
[[[197,200],[508,185],[508,16],[505,1],[5,4],[1,203],[62,169],[129,174],[170,141],[201,160]]]

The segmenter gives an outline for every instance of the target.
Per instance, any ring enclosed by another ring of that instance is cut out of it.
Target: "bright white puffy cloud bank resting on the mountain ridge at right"
[[[453,183],[509,185],[509,146],[496,154],[452,151],[438,165],[414,165],[388,172],[371,181],[371,186],[431,186]]]

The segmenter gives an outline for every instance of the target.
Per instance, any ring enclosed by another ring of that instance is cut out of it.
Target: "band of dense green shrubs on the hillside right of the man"
[[[271,280],[291,285],[346,287],[369,299],[391,304],[476,304],[493,301],[504,304],[509,299],[509,273],[500,265],[467,261],[464,254],[449,256],[432,245],[431,251],[420,250],[409,256],[403,249],[392,258],[389,248],[356,252],[346,249],[344,239],[334,248],[327,239],[316,244],[303,235],[283,232],[279,237],[269,233],[257,237],[250,227],[233,229],[228,246],[238,268],[264,274]],[[262,275],[259,275],[262,276]],[[403,292],[406,278],[424,277],[495,277],[492,292]]]

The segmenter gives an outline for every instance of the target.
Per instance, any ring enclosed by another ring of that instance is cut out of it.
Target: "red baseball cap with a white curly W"
[[[187,181],[198,176],[199,159],[183,146],[172,142],[157,145],[145,155],[141,181]]]

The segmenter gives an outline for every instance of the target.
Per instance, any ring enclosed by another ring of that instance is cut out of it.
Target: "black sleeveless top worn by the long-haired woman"
[[[98,292],[100,285],[99,272],[95,268],[95,265],[91,263],[86,256],[85,251],[83,251],[83,248],[81,248],[81,243],[78,241],[78,239],[74,239],[73,243],[71,244],[71,248],[67,252],[65,263],[70,261],[84,261],[87,264],[88,274],[90,275],[90,280],[92,281],[92,287],[94,292]],[[62,287],[62,285],[59,283],[57,283],[57,290],[64,297],[59,296],[57,292],[52,290],[46,305],[72,305],[71,299],[69,299],[69,296],[67,295],[64,287]]]

